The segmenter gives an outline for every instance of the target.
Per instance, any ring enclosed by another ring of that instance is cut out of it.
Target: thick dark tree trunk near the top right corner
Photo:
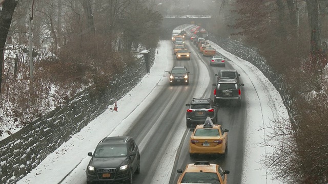
[[[311,53],[315,55],[320,49],[319,0],[306,0],[311,31]]]

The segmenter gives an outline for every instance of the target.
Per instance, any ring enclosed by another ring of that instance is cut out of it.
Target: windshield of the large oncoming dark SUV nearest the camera
[[[94,157],[122,157],[127,154],[125,145],[99,145],[94,151]]]

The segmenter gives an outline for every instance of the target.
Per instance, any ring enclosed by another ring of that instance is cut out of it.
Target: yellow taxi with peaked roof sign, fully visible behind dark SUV
[[[214,125],[207,117],[203,125],[190,129],[193,133],[189,142],[189,154],[226,154],[228,152],[228,132],[221,125]]]

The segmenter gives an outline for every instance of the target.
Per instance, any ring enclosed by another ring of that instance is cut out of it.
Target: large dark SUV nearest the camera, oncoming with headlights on
[[[87,183],[93,181],[132,183],[140,173],[140,153],[130,136],[105,137],[101,140],[87,167]]]

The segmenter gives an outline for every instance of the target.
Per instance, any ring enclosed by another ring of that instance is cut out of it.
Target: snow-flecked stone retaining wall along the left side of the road
[[[150,53],[150,66],[155,51]],[[124,74],[115,76],[104,94],[90,87],[81,91],[64,106],[57,107],[16,133],[0,141],[0,184],[16,183],[34,169],[47,155],[88,125],[109,105],[128,93],[146,75],[144,57]]]

